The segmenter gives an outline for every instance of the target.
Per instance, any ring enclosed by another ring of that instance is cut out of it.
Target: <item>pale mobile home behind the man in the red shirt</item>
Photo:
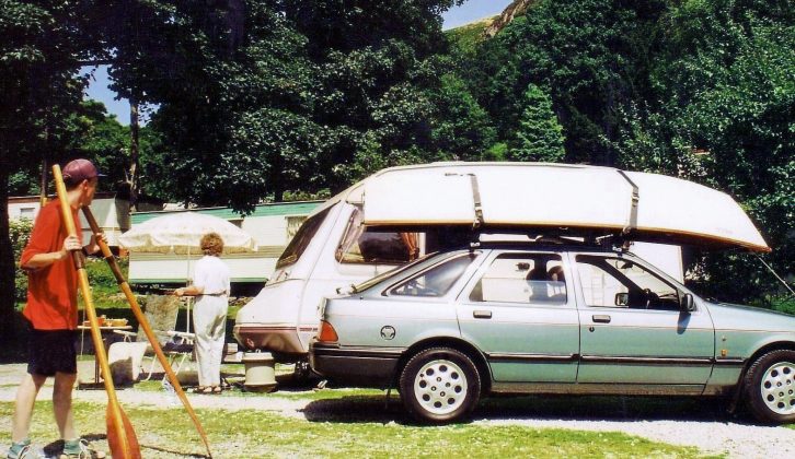
[[[55,199],[55,196],[50,196],[48,199]],[[9,220],[35,221],[41,208],[38,196],[11,197],[9,198]],[[91,213],[107,235],[107,245],[111,248],[117,248],[118,236],[129,229],[129,201],[117,198],[113,192],[97,192],[91,203]],[[80,225],[83,229],[83,243],[88,244],[91,238],[91,228],[82,212],[80,213]]]

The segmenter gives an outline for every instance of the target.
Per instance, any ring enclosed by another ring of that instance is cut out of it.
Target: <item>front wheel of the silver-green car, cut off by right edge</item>
[[[765,424],[795,421],[795,351],[771,351],[748,368],[746,405]]]

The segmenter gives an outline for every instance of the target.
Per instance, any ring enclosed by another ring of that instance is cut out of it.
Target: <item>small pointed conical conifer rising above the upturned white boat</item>
[[[563,127],[552,110],[548,92],[530,84],[525,93],[526,108],[516,132],[515,146],[508,157],[512,161],[540,161],[558,163],[563,161]]]

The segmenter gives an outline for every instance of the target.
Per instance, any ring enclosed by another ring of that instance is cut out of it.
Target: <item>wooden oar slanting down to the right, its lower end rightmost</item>
[[[160,348],[160,342],[154,336],[152,328],[149,326],[147,317],[143,315],[143,311],[141,311],[141,307],[138,305],[138,299],[132,294],[132,290],[127,283],[127,280],[124,278],[124,274],[116,262],[116,258],[114,258],[111,252],[111,248],[107,247],[107,244],[105,244],[102,237],[99,237],[102,234],[102,228],[100,228],[100,225],[96,224],[96,219],[94,219],[94,214],[91,213],[91,209],[83,207],[83,214],[91,226],[91,231],[97,236],[96,242],[100,244],[100,248],[102,249],[102,256],[105,257],[105,261],[107,261],[107,264],[111,267],[111,271],[113,271],[113,275],[116,278],[116,283],[118,283],[124,296],[127,297],[127,302],[132,309],[132,314],[136,316],[136,319],[138,319],[138,323],[141,326],[141,329],[143,329],[143,333],[147,336],[147,339],[149,339],[149,343],[152,345],[154,354],[158,356],[158,361],[160,361],[160,365],[163,367],[165,375],[169,377],[169,381],[171,381],[171,385],[174,387],[174,391],[177,397],[180,397],[180,400],[182,400],[182,404],[185,405],[187,414],[193,420],[196,431],[198,431],[201,436],[201,440],[205,443],[205,447],[207,447],[207,456],[212,457],[212,454],[210,452],[210,444],[207,440],[205,429],[201,427],[201,423],[199,422],[198,416],[196,416],[196,412],[193,411],[193,407],[191,407],[191,402],[187,400],[185,391],[182,390],[180,380],[176,378],[176,374],[171,368],[169,360],[165,357],[165,354],[163,354],[163,350]]]

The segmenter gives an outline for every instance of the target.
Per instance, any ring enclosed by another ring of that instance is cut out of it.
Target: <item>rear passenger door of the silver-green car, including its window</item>
[[[554,251],[494,250],[458,298],[462,337],[498,382],[574,382],[578,317]]]

